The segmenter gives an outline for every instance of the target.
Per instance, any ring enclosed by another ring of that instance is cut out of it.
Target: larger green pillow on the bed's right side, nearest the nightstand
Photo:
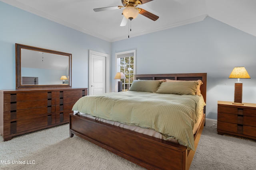
[[[195,95],[197,86],[197,81],[162,82],[156,93]]]

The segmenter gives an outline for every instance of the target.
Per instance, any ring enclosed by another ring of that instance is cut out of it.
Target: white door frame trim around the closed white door
[[[102,57],[106,57],[106,93],[109,92],[109,64],[110,64],[110,57],[109,57],[109,54],[106,54],[106,53],[100,53],[98,51],[92,51],[92,50],[89,50],[89,81],[88,81],[88,95],[91,95],[91,69],[92,69],[92,65],[91,65],[91,61],[92,61],[92,54],[94,55],[100,55]]]

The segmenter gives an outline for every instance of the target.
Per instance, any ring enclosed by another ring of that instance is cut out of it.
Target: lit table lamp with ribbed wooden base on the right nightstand
[[[234,102],[233,104],[244,105],[242,103],[243,95],[243,83],[240,82],[240,78],[250,78],[248,72],[244,67],[234,67],[228,78],[237,78],[235,82]]]

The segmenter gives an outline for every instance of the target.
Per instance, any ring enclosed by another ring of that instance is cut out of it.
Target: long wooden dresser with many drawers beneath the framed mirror
[[[0,90],[0,133],[4,141],[69,122],[74,103],[87,88]]]

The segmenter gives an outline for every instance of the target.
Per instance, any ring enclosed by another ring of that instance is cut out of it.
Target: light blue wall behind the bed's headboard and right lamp
[[[136,27],[136,25],[133,25]],[[245,66],[243,102],[256,103],[256,37],[213,18],[112,43],[115,53],[136,49],[136,74],[206,72],[206,117],[217,119],[217,101],[234,101],[234,66]],[[112,80],[112,84],[114,81]],[[112,87],[114,90],[114,87]]]

